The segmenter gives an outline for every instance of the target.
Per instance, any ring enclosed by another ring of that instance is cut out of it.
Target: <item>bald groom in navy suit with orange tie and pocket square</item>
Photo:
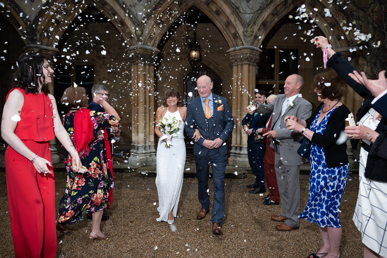
[[[212,94],[211,89],[212,82],[208,76],[203,75],[197,79],[200,96],[187,106],[185,131],[188,135],[194,135],[195,129],[199,129],[202,135],[194,144],[198,196],[202,205],[196,218],[204,219],[209,210],[210,200],[207,190],[211,163],[214,182],[212,233],[221,235],[223,232],[220,224],[224,216],[224,170],[228,152],[226,141],[234,129],[234,119],[226,98]]]

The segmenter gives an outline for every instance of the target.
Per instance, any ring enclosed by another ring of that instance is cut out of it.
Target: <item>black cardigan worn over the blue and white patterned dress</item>
[[[332,86],[333,87],[333,86]],[[315,112],[306,120],[307,128],[313,122],[313,119],[319,113],[322,107],[322,103],[317,107]],[[348,163],[348,155],[346,152],[347,143],[336,144],[337,139],[340,137],[340,133],[344,131],[345,119],[348,117],[348,114],[351,113],[348,107],[341,105],[337,107],[327,122],[327,127],[323,134],[315,132],[312,136],[312,143],[315,143],[325,151],[325,163],[327,163],[328,168],[336,168],[339,166],[344,166]]]

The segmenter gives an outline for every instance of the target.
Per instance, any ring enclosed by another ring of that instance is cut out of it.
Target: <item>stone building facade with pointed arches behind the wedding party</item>
[[[254,90],[282,93],[286,73],[296,72],[305,79],[303,97],[315,108],[310,83],[318,68],[324,68],[321,51],[309,40],[331,38],[334,49],[354,57],[349,51],[357,46],[354,36],[339,26],[344,18],[326,17],[323,10],[329,3],[306,2],[0,0],[0,46],[5,50],[0,107],[12,88],[17,57],[25,51],[44,54],[55,70],[50,91],[59,104],[64,89],[74,83],[87,90],[93,83],[106,85],[109,102],[122,119],[122,141],[116,148],[130,150],[130,166],[149,166],[156,163],[154,120],[165,90],[176,88],[186,104],[197,95],[195,78],[206,74],[217,83],[215,93],[228,99],[236,122],[229,165],[248,167],[241,120]],[[307,13],[313,12],[312,23],[291,18],[303,4]],[[197,73],[187,58],[194,30],[202,48]],[[362,99],[350,89],[342,101],[356,112]],[[64,107],[60,111],[66,112]],[[55,146],[52,141],[54,156]]]

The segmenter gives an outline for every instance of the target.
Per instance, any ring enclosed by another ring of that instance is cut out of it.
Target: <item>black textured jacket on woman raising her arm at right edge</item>
[[[349,87],[364,98],[363,104],[356,113],[356,120],[360,121],[370,110],[374,97],[366,87],[349,77],[348,73],[358,70],[351,63],[344,60],[340,52],[335,53],[328,60],[327,67],[332,67]],[[364,175],[368,179],[387,183],[387,120],[385,117],[381,119],[375,131],[379,133],[379,136],[376,138],[375,143],[369,145]],[[358,143],[359,139],[351,139],[353,149],[357,148]]]

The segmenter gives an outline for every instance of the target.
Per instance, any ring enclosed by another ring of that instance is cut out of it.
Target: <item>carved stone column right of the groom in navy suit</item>
[[[231,137],[230,166],[249,168],[247,158],[247,134],[242,127],[242,119],[247,114],[246,107],[255,97],[255,67],[262,51],[252,46],[230,48],[227,53],[233,64],[233,99],[231,111],[235,128]]]

